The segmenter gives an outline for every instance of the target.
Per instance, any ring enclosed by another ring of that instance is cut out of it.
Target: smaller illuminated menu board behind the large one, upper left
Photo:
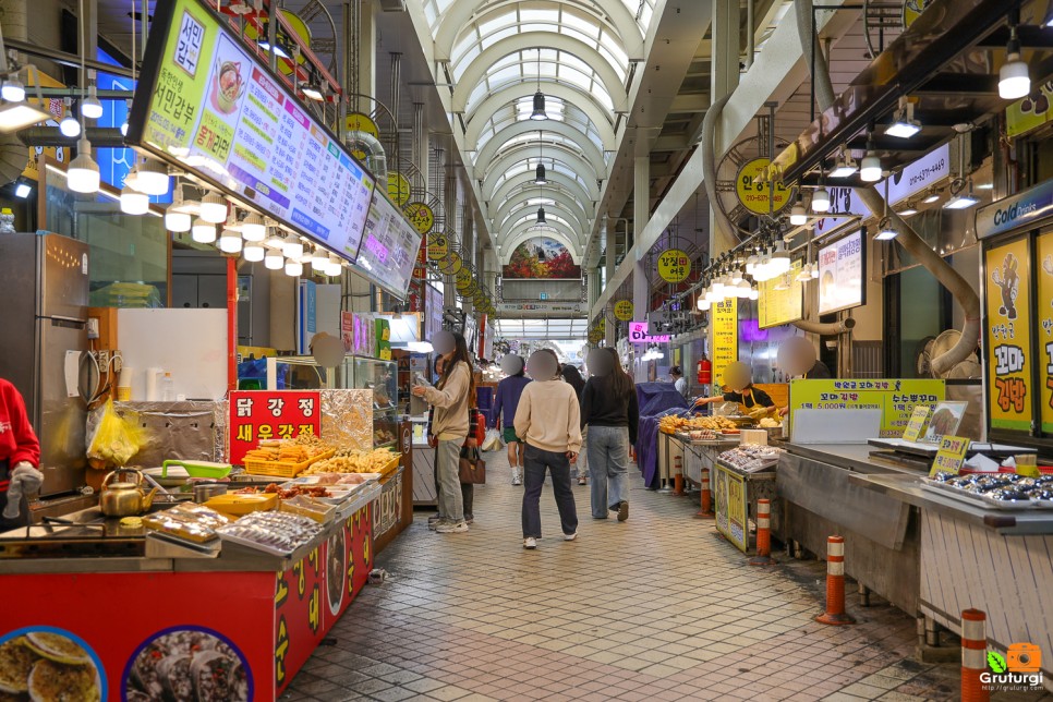
[[[421,249],[421,234],[384,195],[376,193],[355,266],[375,283],[406,296]]]

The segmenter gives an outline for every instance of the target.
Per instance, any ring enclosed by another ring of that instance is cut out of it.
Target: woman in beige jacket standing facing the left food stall
[[[461,493],[459,462],[461,447],[472,446],[469,439],[470,398],[475,392],[472,361],[468,344],[460,334],[443,330],[433,340],[435,351],[443,356],[443,373],[435,387],[415,385],[412,392],[435,409],[433,432],[438,439],[435,465],[438,473],[438,520],[435,531],[440,534],[468,531],[464,521],[464,499]]]

